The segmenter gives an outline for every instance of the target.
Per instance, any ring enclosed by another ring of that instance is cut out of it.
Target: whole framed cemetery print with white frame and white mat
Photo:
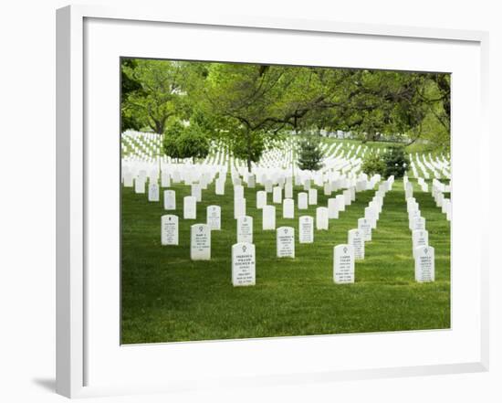
[[[57,19],[58,393],[487,369],[486,33]]]

